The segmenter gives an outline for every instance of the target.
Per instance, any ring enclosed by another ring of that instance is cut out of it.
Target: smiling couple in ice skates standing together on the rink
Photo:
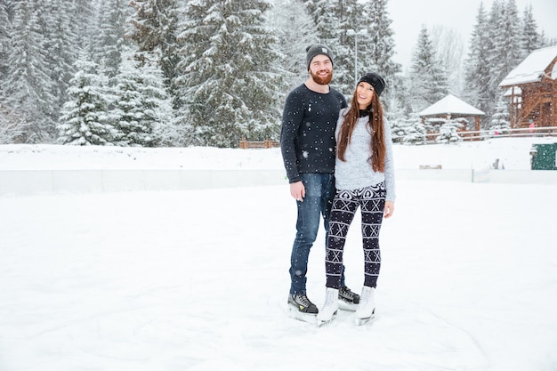
[[[361,324],[375,313],[374,292],[381,265],[379,230],[394,210],[391,129],[379,96],[383,78],[367,73],[359,79],[348,106],[329,86],[333,56],[327,46],[308,47],[308,80],[287,96],[280,148],[290,194],[298,216],[290,263],[288,309],[296,319],[334,318],[337,309],[356,311]],[[345,285],[343,246],[348,228],[361,208],[364,286],[354,294]],[[306,294],[306,273],[320,217],[327,231],[325,303],[321,311]]]

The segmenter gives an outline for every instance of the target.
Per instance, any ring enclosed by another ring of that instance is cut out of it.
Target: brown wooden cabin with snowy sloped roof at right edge
[[[557,45],[531,52],[499,84],[511,100],[511,127],[557,126]]]

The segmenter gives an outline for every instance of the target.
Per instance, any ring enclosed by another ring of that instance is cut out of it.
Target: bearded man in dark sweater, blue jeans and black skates
[[[298,209],[288,309],[296,319],[311,320],[318,309],[306,294],[308,257],[321,216],[327,241],[328,218],[335,197],[335,126],[340,109],[347,104],[343,94],[329,86],[333,78],[331,51],[322,44],[311,45],[306,51],[310,77],[287,96],[280,149],[290,194]],[[340,308],[355,310],[359,295],[345,286],[344,273],[338,296]]]

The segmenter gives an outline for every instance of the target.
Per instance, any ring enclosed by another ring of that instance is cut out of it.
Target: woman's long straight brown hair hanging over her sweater
[[[341,130],[338,133],[338,138],[336,138],[336,156],[338,156],[341,161],[346,161],[344,153],[351,142],[352,132],[354,131],[354,127],[356,127],[356,123],[359,118],[359,105],[356,94],[358,94],[358,87],[356,87],[356,90],[352,95],[350,109],[344,116]],[[384,173],[385,138],[383,128],[383,106],[381,105],[379,96],[375,93],[375,91],[371,104],[367,107],[367,109],[370,111],[367,127],[372,133],[371,140],[369,141],[371,156],[367,161],[370,163],[374,172]]]

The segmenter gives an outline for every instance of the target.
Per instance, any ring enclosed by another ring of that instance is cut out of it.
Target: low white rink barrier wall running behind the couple
[[[397,181],[557,184],[551,170],[397,169]],[[287,185],[284,170],[28,170],[0,171],[0,195],[203,190]]]

